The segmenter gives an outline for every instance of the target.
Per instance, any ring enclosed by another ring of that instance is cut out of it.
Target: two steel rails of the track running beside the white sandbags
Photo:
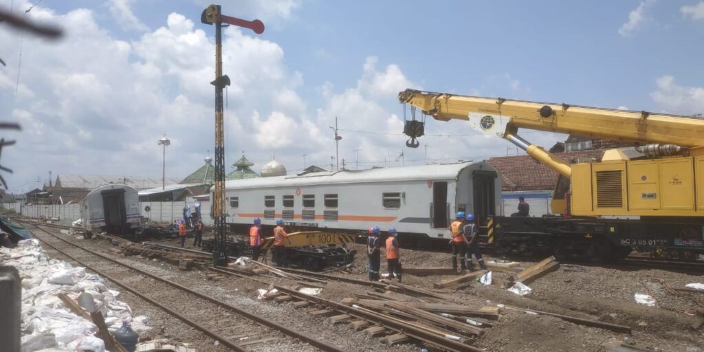
[[[144,270],[141,270],[139,268],[134,268],[132,265],[122,263],[119,260],[115,260],[115,259],[110,258],[108,256],[104,256],[101,253],[97,253],[97,252],[92,251],[90,249],[87,249],[83,246],[79,246],[71,241],[68,241],[66,239],[62,239],[61,237],[58,237],[56,234],[52,234],[51,232],[42,229],[42,227],[40,227],[42,224],[32,224],[32,225],[34,225],[34,227],[36,227],[38,230],[41,230],[42,232],[49,234],[51,237],[55,237],[56,239],[59,239],[67,244],[70,244],[71,246],[75,246],[79,249],[82,249],[83,251],[87,251],[88,253],[93,254],[94,256],[98,256],[99,258],[108,260],[111,263],[115,263],[117,265],[125,267],[128,270],[139,272],[140,275],[150,277],[152,279],[155,279],[158,282],[163,282],[163,283],[168,284],[172,287],[180,289],[181,291],[185,291],[188,294],[197,296],[205,301],[208,301],[210,303],[214,303],[217,306],[220,306],[220,307],[225,308],[227,310],[231,310],[233,313],[236,313],[237,315],[241,315],[242,317],[244,317],[248,320],[252,320],[254,322],[257,322],[260,325],[264,325],[265,327],[275,329],[279,332],[282,332],[283,334],[286,334],[289,337],[293,337],[294,339],[298,339],[299,341],[303,341],[307,344],[310,344],[311,346],[315,346],[316,348],[319,348],[321,351],[326,351],[326,352],[343,352],[344,351],[344,350],[341,350],[335,346],[327,344],[324,341],[314,339],[313,337],[309,337],[306,334],[303,334],[301,332],[297,332],[296,330],[293,330],[293,329],[289,329],[287,327],[284,327],[283,325],[279,325],[277,322],[273,322],[272,320],[262,318],[258,315],[253,314],[253,313],[249,313],[246,310],[241,310],[235,306],[232,306],[230,303],[220,301],[217,298],[213,298],[213,297],[208,296],[206,294],[201,294],[198,291],[194,291],[192,289],[189,289],[188,287],[184,287],[181,284],[177,284],[176,282],[172,282],[168,279],[163,279],[162,277],[158,277],[157,275],[153,275],[153,274],[146,272]],[[241,352],[247,351],[245,348],[243,348],[237,344],[232,343],[230,340],[227,339],[227,337],[222,337],[219,334],[210,331],[210,329],[203,327],[199,323],[194,322],[193,320],[190,320],[189,318],[184,317],[180,313],[177,313],[175,310],[172,310],[172,309],[164,306],[163,304],[153,300],[152,298],[149,298],[149,296],[146,296],[144,293],[137,291],[136,289],[130,287],[129,285],[125,284],[124,282],[121,282],[120,280],[115,279],[114,277],[111,277],[111,275],[108,275],[105,272],[102,272],[100,270],[96,270],[91,265],[84,263],[82,260],[79,260],[79,259],[75,258],[74,256],[71,256],[70,254],[66,253],[65,251],[58,249],[56,246],[49,244],[49,242],[47,242],[45,239],[40,239],[37,236],[35,236],[35,238],[37,238],[39,241],[42,241],[42,243],[46,244],[47,246],[51,247],[51,249],[54,249],[58,253],[63,254],[63,256],[70,258],[71,260],[75,261],[76,263],[83,265],[85,268],[92,270],[93,272],[96,272],[98,275],[101,275],[102,277],[105,277],[106,279],[109,279],[111,282],[117,284],[119,287],[122,287],[123,289],[130,291],[135,296],[139,296],[139,298],[142,298],[144,301],[151,303],[153,306],[157,306],[158,308],[161,308],[162,310],[164,310],[165,312],[174,316],[175,318],[182,320],[182,322],[186,323],[187,325],[190,325],[191,327],[194,327],[195,329],[199,330],[200,332],[203,332],[203,334],[206,334],[208,337],[211,337],[217,341],[220,341],[221,344],[227,346],[228,348],[231,348],[233,351],[241,351]]]

